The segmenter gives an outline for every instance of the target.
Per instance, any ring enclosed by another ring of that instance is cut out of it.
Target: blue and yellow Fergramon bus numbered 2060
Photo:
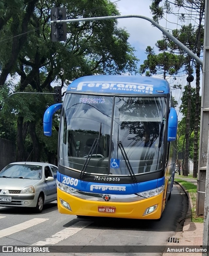
[[[44,114],[61,109],[58,211],[160,219],[175,174],[177,113],[169,83],[143,76],[80,77]]]

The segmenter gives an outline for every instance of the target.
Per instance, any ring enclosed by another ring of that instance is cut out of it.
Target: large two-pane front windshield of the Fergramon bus
[[[61,115],[59,164],[81,172],[91,155],[85,173],[129,176],[121,144],[135,175],[160,170],[166,106],[165,97],[150,95],[66,94]]]

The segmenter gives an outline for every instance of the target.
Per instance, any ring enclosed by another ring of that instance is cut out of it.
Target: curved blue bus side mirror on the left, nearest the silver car
[[[43,132],[46,136],[52,136],[52,117],[53,114],[62,108],[62,103],[54,104],[50,106],[43,116]]]

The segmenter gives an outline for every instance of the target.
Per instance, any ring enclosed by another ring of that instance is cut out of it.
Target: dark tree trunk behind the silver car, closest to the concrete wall
[[[23,142],[23,116],[17,118],[17,150],[16,150],[16,162],[25,161],[25,148]]]

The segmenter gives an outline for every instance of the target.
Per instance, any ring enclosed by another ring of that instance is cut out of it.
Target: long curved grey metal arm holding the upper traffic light
[[[203,60],[201,60],[196,54],[189,50],[183,43],[171,35],[165,28],[160,26],[157,22],[152,20],[149,17],[142,15],[116,15],[116,16],[104,16],[104,17],[93,17],[93,18],[81,18],[81,19],[70,19],[70,20],[54,20],[51,21],[51,24],[55,23],[68,23],[68,22],[80,22],[80,21],[99,21],[99,20],[113,20],[113,19],[123,19],[123,18],[140,18],[151,22],[154,26],[159,28],[169,39],[176,43],[180,48],[182,48],[188,55],[196,60],[201,66],[203,65]]]

